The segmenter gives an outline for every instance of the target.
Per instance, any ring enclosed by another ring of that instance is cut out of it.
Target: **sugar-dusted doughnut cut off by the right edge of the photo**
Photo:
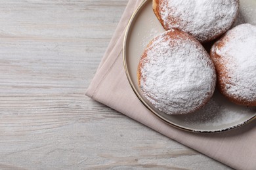
[[[256,27],[234,27],[215,42],[210,55],[221,93],[238,105],[256,106]]]

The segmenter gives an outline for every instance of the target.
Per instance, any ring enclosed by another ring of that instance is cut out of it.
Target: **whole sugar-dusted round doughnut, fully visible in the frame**
[[[188,114],[209,101],[216,85],[215,67],[194,37],[171,29],[153,39],[137,70],[142,95],[166,114]]]

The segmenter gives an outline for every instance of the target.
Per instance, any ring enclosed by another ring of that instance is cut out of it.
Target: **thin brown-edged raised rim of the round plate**
[[[162,122],[164,122],[165,124],[168,124],[169,126],[173,126],[176,127],[177,129],[181,129],[184,131],[189,131],[189,132],[193,132],[193,133],[220,133],[220,132],[224,132],[224,131],[230,131],[232,129],[237,129],[238,127],[242,127],[245,124],[249,124],[250,122],[253,122],[253,120],[256,120],[256,115],[249,118],[249,120],[246,120],[244,122],[242,122],[241,124],[237,124],[235,126],[231,126],[231,127],[226,127],[224,129],[216,129],[216,130],[197,130],[197,129],[191,129],[191,128],[186,128],[186,127],[182,127],[179,126],[177,124],[174,124],[172,122],[170,122],[169,120],[167,120],[166,118],[163,118],[161,115],[159,115],[155,110],[153,110],[147,103],[146,101],[144,101],[144,99],[142,99],[142,97],[140,96],[139,92],[137,92],[135,85],[133,84],[133,81],[131,80],[131,76],[129,75],[129,69],[127,67],[127,56],[126,56],[126,51],[127,51],[127,39],[128,39],[128,35],[129,32],[131,30],[131,25],[133,24],[133,20],[135,19],[135,17],[137,16],[138,12],[140,12],[140,10],[143,8],[143,6],[148,3],[148,1],[150,0],[143,0],[139,7],[137,7],[137,9],[133,12],[133,14],[131,15],[131,18],[129,19],[129,22],[127,24],[127,27],[125,29],[125,36],[123,39],[123,67],[125,69],[125,75],[127,76],[128,82],[131,86],[131,88],[133,89],[133,92],[135,92],[135,95],[137,95],[138,99],[140,100],[140,102],[148,109],[150,110],[150,112],[156,116],[158,119],[160,119]]]

